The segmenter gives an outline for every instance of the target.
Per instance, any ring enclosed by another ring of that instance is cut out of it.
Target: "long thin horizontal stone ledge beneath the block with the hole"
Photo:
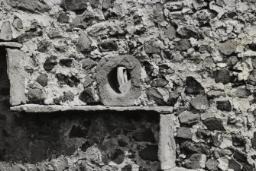
[[[60,112],[60,111],[153,111],[161,114],[170,114],[173,112],[172,106],[61,106],[61,105],[37,105],[25,104],[12,106],[12,111],[17,112]]]

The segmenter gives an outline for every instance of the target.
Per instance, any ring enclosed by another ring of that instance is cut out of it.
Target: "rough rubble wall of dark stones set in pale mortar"
[[[134,105],[173,106],[177,166],[254,170],[255,8],[254,0],[0,0],[1,170],[159,169],[157,113],[10,112],[7,48],[24,54],[20,103],[44,105],[102,104],[98,65],[131,55],[141,65]]]

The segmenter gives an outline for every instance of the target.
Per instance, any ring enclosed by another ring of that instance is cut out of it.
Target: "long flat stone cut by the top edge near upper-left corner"
[[[29,12],[46,12],[50,11],[50,5],[47,5],[44,1],[30,1],[30,0],[11,0],[8,1],[8,5],[13,8],[18,8]]]

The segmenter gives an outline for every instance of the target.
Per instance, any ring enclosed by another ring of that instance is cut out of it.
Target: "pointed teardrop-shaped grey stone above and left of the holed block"
[[[77,49],[81,52],[91,52],[92,41],[89,39],[89,36],[86,33],[81,33],[79,36],[79,40],[77,41]]]

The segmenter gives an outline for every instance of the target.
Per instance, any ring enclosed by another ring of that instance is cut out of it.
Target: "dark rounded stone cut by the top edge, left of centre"
[[[87,8],[85,0],[63,0],[61,6],[69,11],[81,11]]]

